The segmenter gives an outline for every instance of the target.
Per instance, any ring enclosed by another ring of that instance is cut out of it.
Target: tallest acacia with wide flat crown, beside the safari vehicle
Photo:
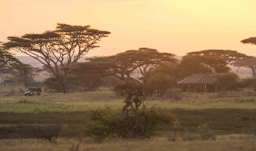
[[[3,45],[37,59],[58,79],[63,92],[68,93],[69,65],[76,63],[89,50],[99,47],[96,43],[108,34],[110,32],[92,29],[90,26],[58,23],[56,30],[48,30],[42,34],[8,37],[8,42]],[[64,73],[64,78],[61,78],[61,71]]]

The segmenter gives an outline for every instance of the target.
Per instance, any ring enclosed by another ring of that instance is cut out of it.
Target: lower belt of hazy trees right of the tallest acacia
[[[103,85],[112,90],[115,83],[131,81],[135,75],[140,75],[147,77],[147,81],[149,81],[145,88],[147,94],[152,95],[157,92],[158,96],[164,96],[169,88],[176,86],[177,81],[191,76],[191,74],[228,73],[230,71],[228,63],[231,61],[234,63],[236,60],[246,61],[247,58],[250,58],[250,56],[234,50],[203,50],[189,52],[180,61],[175,59],[173,54],[173,60],[168,60],[165,53],[165,55],[158,56],[162,57],[162,62],[154,60],[155,63],[152,63],[149,58],[152,59],[153,56],[156,56],[153,54],[154,51],[157,52],[151,48],[139,48],[109,57],[89,58],[85,63],[76,63],[69,68],[69,91],[78,89],[91,91]],[[228,57],[226,51],[231,54],[231,57]],[[208,52],[208,55],[205,52]],[[212,55],[213,53],[215,55]],[[223,57],[222,54],[225,56]],[[145,70],[145,68],[147,69]],[[51,73],[50,70],[47,71]],[[50,77],[45,84],[57,92],[62,91],[56,77]]]

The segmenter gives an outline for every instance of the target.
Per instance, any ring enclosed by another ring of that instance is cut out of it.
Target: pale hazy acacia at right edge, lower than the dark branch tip
[[[250,59],[245,59],[245,60],[237,60],[233,63],[231,63],[233,66],[237,67],[245,67],[245,68],[250,68],[252,72],[253,79],[256,77],[255,75],[255,70],[256,70],[256,57],[251,57]]]

